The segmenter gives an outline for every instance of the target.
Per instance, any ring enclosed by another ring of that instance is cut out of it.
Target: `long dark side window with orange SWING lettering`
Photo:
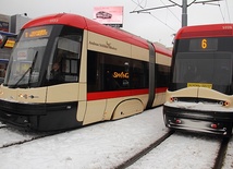
[[[148,87],[148,63],[88,51],[87,90],[118,90]]]

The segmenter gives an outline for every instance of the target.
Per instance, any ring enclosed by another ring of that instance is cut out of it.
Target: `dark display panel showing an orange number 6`
[[[218,50],[218,38],[198,38],[189,40],[189,51]]]

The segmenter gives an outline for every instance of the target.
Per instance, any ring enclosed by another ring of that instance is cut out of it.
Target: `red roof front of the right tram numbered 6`
[[[175,39],[229,36],[233,36],[233,24],[209,24],[182,27],[177,32]]]

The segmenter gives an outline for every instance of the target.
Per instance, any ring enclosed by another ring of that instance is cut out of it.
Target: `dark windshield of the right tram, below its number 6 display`
[[[230,52],[177,53],[173,83],[230,85],[232,82],[232,57]]]

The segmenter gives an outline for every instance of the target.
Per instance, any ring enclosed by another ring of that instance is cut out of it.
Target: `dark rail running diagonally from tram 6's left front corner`
[[[138,159],[140,159],[143,156],[145,156],[147,153],[149,153],[150,150],[152,150],[154,148],[156,148],[158,145],[160,145],[162,142],[164,142],[168,137],[170,137],[172,134],[174,133],[174,131],[169,131],[168,133],[165,133],[163,136],[161,136],[159,140],[155,141],[152,144],[150,144],[148,147],[146,147],[145,149],[143,149],[142,152],[139,152],[138,154],[134,155],[133,157],[131,157],[128,160],[126,160],[125,162],[119,165],[115,169],[125,169],[128,166],[133,165],[134,162],[136,162]]]

